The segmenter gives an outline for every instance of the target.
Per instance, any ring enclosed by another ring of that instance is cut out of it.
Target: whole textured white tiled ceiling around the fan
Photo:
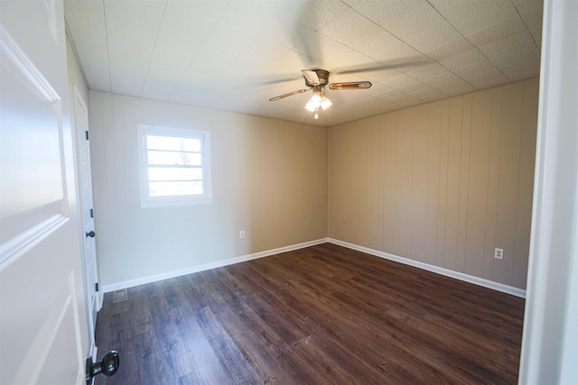
[[[539,74],[539,0],[65,0],[89,87],[331,126]],[[319,120],[302,69],[330,82]]]

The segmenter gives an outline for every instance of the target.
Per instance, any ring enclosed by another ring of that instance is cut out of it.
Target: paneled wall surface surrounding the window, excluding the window
[[[326,128],[97,91],[89,106],[101,285],[327,237]],[[136,124],[210,131],[211,205],[140,207]]]

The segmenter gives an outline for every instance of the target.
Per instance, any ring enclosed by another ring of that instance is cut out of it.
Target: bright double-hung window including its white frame
[[[210,133],[138,124],[141,207],[211,203]]]

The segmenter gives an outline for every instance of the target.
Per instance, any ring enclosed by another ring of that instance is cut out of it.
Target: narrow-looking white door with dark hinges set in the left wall
[[[94,338],[97,313],[102,301],[98,291],[97,247],[95,243],[94,211],[92,208],[92,179],[90,177],[89,111],[82,96],[74,87],[74,126],[77,137],[79,165],[80,234],[83,239],[83,266],[87,293],[89,335]],[[94,346],[92,346],[94,348]]]

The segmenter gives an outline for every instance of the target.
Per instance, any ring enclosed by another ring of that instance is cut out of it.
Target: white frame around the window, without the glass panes
[[[210,179],[210,132],[192,130],[186,128],[167,127],[152,124],[137,124],[138,138],[138,169],[140,179],[140,205],[141,207],[169,207],[169,206],[191,206],[207,205],[212,203],[212,189]],[[161,196],[151,197],[149,188],[149,165],[148,146],[146,138],[148,135],[155,136],[175,136],[182,138],[194,138],[201,140],[202,158],[202,183],[203,194],[191,194],[181,196]]]

